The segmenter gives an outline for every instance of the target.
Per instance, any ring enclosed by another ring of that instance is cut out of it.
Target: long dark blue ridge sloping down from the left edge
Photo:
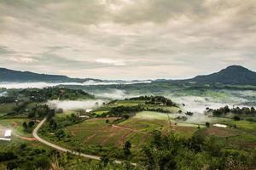
[[[60,75],[38,74],[30,71],[13,71],[0,68],[0,82],[86,82],[96,79],[70,78]]]

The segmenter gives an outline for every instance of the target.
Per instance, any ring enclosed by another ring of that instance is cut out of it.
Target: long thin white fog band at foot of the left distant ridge
[[[133,81],[133,82],[123,82],[123,81],[106,81],[106,82],[96,82],[96,81],[86,81],[86,82],[0,82],[0,88],[47,88],[60,85],[69,86],[98,86],[98,85],[118,85],[118,84],[137,84],[137,83],[150,83],[151,81]]]

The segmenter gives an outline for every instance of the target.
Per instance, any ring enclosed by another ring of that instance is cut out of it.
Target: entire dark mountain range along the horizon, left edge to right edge
[[[0,82],[88,82],[89,85],[105,85],[105,84],[133,84],[141,83],[142,81],[125,82],[125,81],[102,81],[91,78],[71,78],[61,75],[47,75],[38,74],[30,71],[12,71],[5,68],[0,68]],[[151,81],[146,81],[151,82]],[[202,82],[202,83],[216,83],[223,84],[237,84],[237,85],[256,85],[256,72],[250,71],[240,65],[231,65],[219,72],[197,76],[187,80],[165,80],[159,79],[153,82]],[[86,84],[85,84],[86,85]]]

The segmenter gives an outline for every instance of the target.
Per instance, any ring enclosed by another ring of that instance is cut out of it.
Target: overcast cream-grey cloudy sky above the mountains
[[[256,71],[255,0],[0,0],[0,67],[102,79]]]

